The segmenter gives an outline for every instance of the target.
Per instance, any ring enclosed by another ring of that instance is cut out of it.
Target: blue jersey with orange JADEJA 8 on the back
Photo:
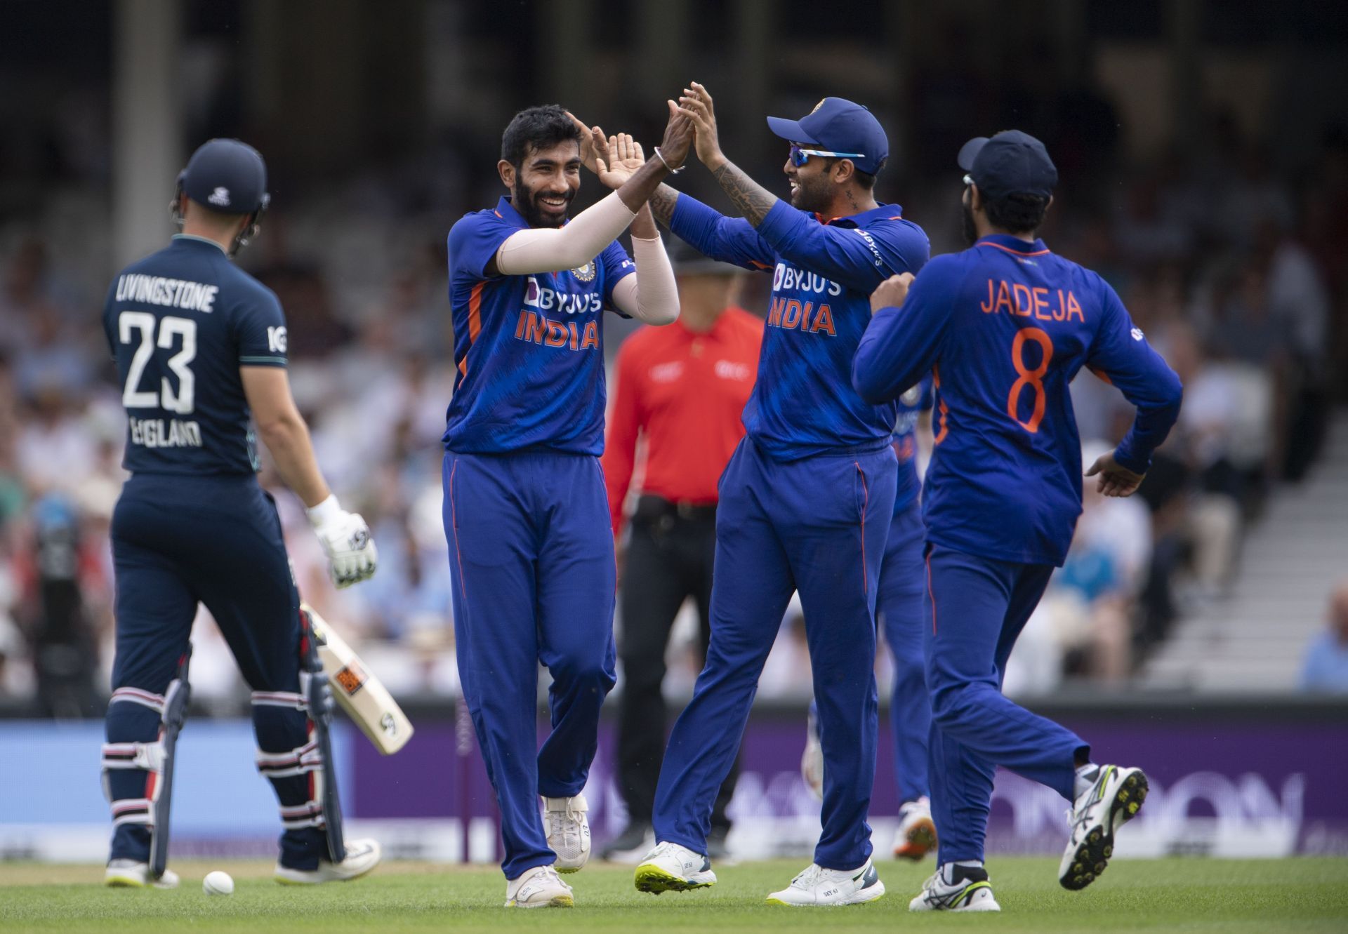
[[[1082,365],[1138,407],[1115,452],[1143,473],[1180,415],[1181,387],[1099,275],[993,235],[931,260],[899,309],[880,309],[853,365],[867,399],[933,371],[927,540],[1061,565],[1081,513],[1081,441],[1068,384]]]

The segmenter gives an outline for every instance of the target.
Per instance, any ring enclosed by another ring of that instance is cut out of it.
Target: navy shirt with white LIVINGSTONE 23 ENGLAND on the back
[[[127,407],[125,469],[256,472],[239,368],[286,365],[275,292],[218,244],[178,235],[113,279],[102,328]]]

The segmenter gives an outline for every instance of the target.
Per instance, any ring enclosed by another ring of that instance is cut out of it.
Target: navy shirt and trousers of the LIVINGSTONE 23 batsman
[[[255,476],[239,373],[286,365],[280,305],[217,244],[179,235],[117,275],[102,323],[127,407],[131,472],[112,516],[117,632],[104,747],[112,859],[147,860],[156,779],[131,760],[135,744],[159,735],[200,601],[253,691],[257,764],[286,828],[280,861],[313,869],[326,841],[299,694],[299,594],[280,519]]]

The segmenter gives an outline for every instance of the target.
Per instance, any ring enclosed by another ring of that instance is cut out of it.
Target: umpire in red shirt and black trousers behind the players
[[[642,439],[640,496],[627,546],[617,549],[624,678],[617,783],[628,825],[604,848],[605,859],[651,846],[651,809],[665,757],[665,650],[679,606],[692,597],[706,655],[716,487],[744,437],[740,414],[754,390],[763,341],[763,321],[733,305],[736,267],[706,259],[681,241],[671,241],[670,253],[679,317],[667,328],[642,328],[617,352],[617,390],[601,461],[613,536],[621,542],[623,507]],[[731,826],[725,806],[737,771],[731,771],[717,795],[709,849],[724,852]]]

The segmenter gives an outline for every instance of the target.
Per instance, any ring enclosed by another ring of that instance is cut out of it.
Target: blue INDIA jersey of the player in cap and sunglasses
[[[930,245],[898,205],[821,222],[778,201],[755,229],[681,194],[670,229],[714,259],[772,272],[758,381],[744,407],[749,438],[778,461],[879,450],[898,414],[864,402],[852,357],[871,319],[871,292],[917,272]]]

